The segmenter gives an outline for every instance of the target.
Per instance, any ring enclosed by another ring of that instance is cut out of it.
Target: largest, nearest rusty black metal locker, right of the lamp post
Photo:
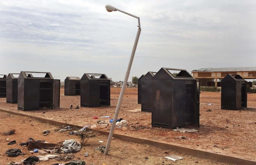
[[[199,95],[199,81],[187,70],[161,68],[152,78],[152,126],[199,126]]]

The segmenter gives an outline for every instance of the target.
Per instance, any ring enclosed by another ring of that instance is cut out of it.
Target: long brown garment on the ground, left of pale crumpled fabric
[[[43,143],[39,141],[35,141],[33,138],[29,138],[27,140],[27,148],[29,150],[33,149],[54,149],[56,147],[60,147],[61,144],[55,144],[55,143]]]

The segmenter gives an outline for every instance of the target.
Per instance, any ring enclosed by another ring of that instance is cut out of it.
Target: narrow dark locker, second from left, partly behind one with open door
[[[18,102],[18,76],[20,73],[9,73],[6,79],[6,103]]]

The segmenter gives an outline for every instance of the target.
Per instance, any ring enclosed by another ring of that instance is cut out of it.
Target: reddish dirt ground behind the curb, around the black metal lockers
[[[111,116],[113,118],[119,97],[120,88],[111,88],[111,106],[80,109],[69,109],[70,105],[80,104],[80,96],[64,96],[61,88],[60,109],[19,111],[17,104],[6,104],[0,98],[0,109],[15,111],[32,116],[42,117],[60,122],[68,121],[75,125],[91,125],[95,129],[109,131],[110,126],[99,125],[92,117]],[[115,133],[160,141],[179,146],[190,147],[208,152],[220,153],[244,159],[256,160],[256,94],[248,94],[248,109],[221,110],[220,93],[201,92],[200,94],[200,128],[199,132],[175,132],[172,129],[151,128],[151,113],[131,112],[140,109],[137,104],[137,88],[127,88],[119,113],[119,117],[127,120],[128,126],[115,129]],[[213,103],[207,106],[206,103]],[[11,106],[14,105],[14,106]],[[206,111],[211,109],[212,111]],[[42,113],[45,112],[45,113]],[[71,119],[70,121],[68,120]],[[102,120],[102,119],[101,119]],[[108,122],[108,119],[105,119]],[[139,124],[136,124],[139,122]],[[185,140],[175,137],[185,136]],[[128,155],[126,155],[128,156]]]

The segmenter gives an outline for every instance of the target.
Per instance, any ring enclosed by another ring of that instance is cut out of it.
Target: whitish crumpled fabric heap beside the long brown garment
[[[81,150],[81,143],[79,141],[75,141],[74,139],[65,140],[63,145],[64,146],[60,148],[63,153],[74,153]]]

